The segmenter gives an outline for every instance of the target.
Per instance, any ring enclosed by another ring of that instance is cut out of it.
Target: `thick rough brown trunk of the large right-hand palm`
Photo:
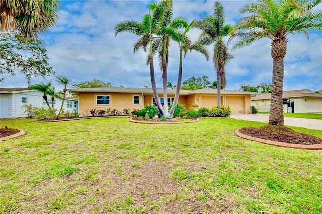
[[[284,126],[283,79],[286,45],[287,39],[285,37],[272,41],[273,75],[269,125]]]

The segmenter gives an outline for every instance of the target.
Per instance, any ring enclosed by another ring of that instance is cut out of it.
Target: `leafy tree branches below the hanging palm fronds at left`
[[[43,40],[24,41],[17,34],[0,32],[0,75],[22,73],[27,79],[54,74]],[[4,78],[0,78],[2,82]]]

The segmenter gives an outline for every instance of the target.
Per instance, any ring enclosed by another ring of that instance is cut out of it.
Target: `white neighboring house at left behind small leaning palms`
[[[31,104],[35,107],[48,108],[43,93],[37,90],[28,90],[27,88],[0,88],[0,118],[27,117],[23,105]],[[48,96],[48,102],[51,106],[51,97]],[[55,98],[54,108],[57,113],[60,110],[62,99]],[[66,98],[63,108],[65,111],[78,111],[78,99]]]

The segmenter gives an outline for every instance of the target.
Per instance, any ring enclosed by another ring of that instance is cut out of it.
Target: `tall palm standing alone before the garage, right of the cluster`
[[[214,44],[213,64],[217,71],[217,107],[221,106],[221,85],[226,87],[225,65],[233,59],[228,52],[227,46],[223,42],[223,37],[229,34],[232,28],[225,25],[225,10],[220,2],[215,2],[213,16],[208,16],[204,20],[196,21],[195,27],[202,30],[198,42],[203,45]]]

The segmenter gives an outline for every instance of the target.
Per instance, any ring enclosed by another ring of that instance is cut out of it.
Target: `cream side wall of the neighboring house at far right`
[[[322,113],[322,98],[302,97],[293,100],[294,113]]]

